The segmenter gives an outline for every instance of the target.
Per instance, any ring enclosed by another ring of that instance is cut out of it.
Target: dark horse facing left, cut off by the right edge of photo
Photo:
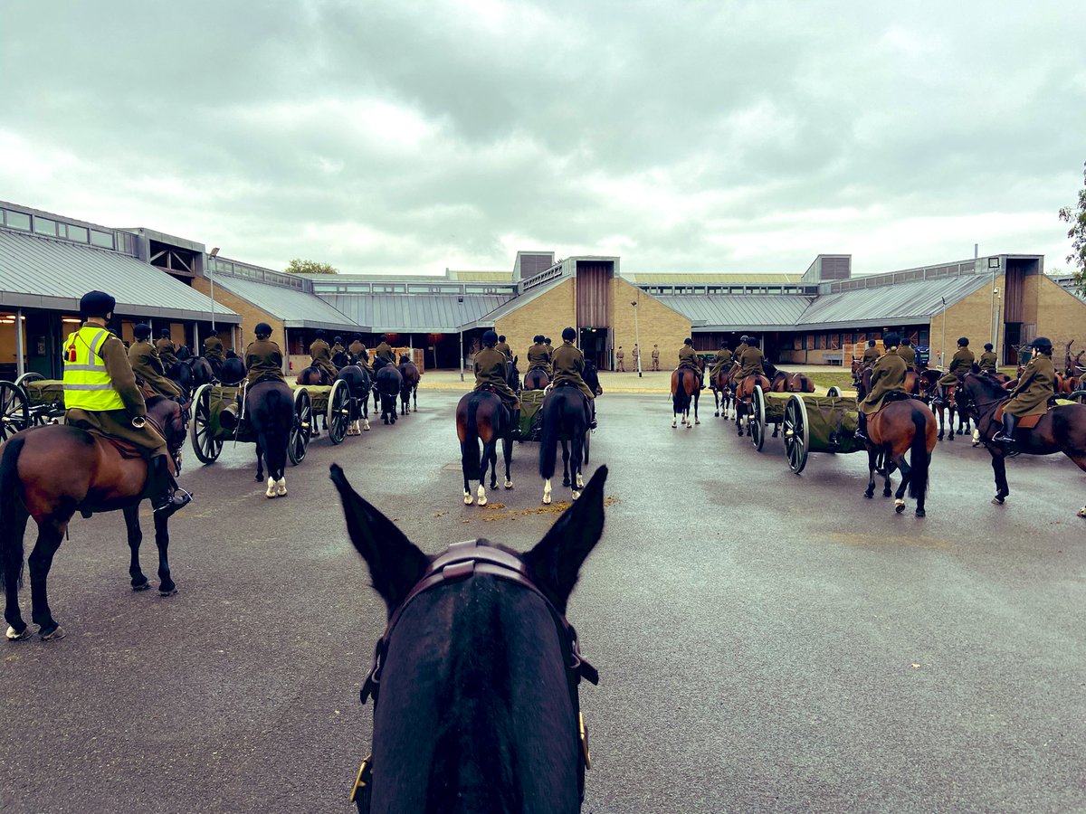
[[[981,441],[992,456],[992,471],[996,481],[995,506],[1002,506],[1011,489],[1007,483],[1008,455],[1052,455],[1063,453],[1086,472],[1086,405],[1069,404],[1052,407],[1040,417],[1036,427],[1014,430],[1014,447],[1008,450],[1002,444],[992,441],[1002,428],[1001,419],[996,419],[997,408],[1008,400],[1008,393],[990,377],[967,373],[963,390],[968,409],[976,417]],[[1078,517],[1086,518],[1086,506],[1078,510]]]

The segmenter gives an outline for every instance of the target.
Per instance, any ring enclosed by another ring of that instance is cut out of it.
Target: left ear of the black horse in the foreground
[[[391,520],[358,496],[337,463],[331,466],[331,479],[343,501],[351,543],[369,565],[374,588],[391,615],[421,578],[429,560]]]

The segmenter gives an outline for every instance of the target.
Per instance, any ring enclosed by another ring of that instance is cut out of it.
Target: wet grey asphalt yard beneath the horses
[[[535,445],[514,491],[463,506],[456,397],[315,440],[285,499],[251,446],[189,451],[169,598],[129,590],[119,514],[75,520],[50,576],[67,637],[0,648],[0,810],[350,811],[384,614],[328,465],[428,552],[527,549],[555,518]],[[602,675],[584,811],[1086,810],[1083,474],[1018,458],[994,507],[985,451],[944,442],[918,519],[862,497],[862,455],[796,476],[780,440],[758,454],[702,416],[599,402],[590,469],[614,500],[569,607]],[[156,584],[150,536],[143,565]]]

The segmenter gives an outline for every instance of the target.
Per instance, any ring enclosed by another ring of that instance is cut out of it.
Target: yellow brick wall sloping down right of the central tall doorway
[[[679,348],[690,336],[690,320],[672,310],[659,300],[646,294],[635,285],[616,277],[611,280],[610,327],[614,349],[619,345],[626,352],[626,369],[633,367],[633,345],[636,338],[633,330],[633,306],[637,302],[637,334],[641,336],[641,368],[648,370],[653,363],[653,345],[660,347],[660,370],[672,370],[679,365]]]

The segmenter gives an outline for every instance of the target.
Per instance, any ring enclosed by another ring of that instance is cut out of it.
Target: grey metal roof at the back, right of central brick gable
[[[690,319],[694,331],[792,328],[811,302],[809,296],[794,294],[655,294],[654,297]]]

